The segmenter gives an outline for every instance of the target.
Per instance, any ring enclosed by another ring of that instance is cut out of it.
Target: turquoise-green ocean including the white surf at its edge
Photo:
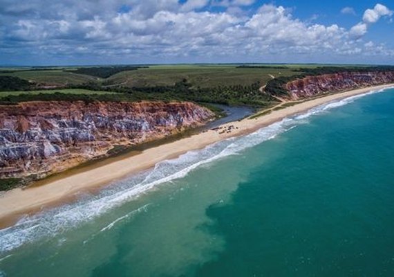
[[[0,276],[394,276],[394,89],[25,217]]]

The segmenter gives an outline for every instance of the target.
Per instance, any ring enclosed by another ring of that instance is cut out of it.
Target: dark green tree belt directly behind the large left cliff
[[[112,91],[115,94],[72,94],[62,93],[62,90],[55,93],[39,93],[39,94],[19,94],[17,96],[4,96],[0,98],[1,105],[14,105],[18,102],[26,102],[33,100],[42,101],[75,101],[83,100],[91,101],[141,101],[141,100],[160,100],[160,101],[192,101],[192,102],[210,102],[225,105],[247,105],[253,107],[266,107],[276,102],[266,93],[259,91],[261,84],[256,82],[251,85],[242,86],[226,86],[213,88],[192,87],[187,80],[177,82],[173,86],[162,87],[100,87],[100,84],[91,82],[88,84],[74,85],[71,89],[88,89],[91,91]]]

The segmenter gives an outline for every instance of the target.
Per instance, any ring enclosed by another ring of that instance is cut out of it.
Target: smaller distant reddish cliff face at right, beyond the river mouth
[[[320,93],[388,84],[394,82],[394,71],[342,72],[308,76],[285,84],[292,100],[308,98]]]

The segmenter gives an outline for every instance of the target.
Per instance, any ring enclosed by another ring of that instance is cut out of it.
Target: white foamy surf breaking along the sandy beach
[[[5,255],[23,244],[43,238],[52,238],[55,235],[64,233],[83,222],[88,222],[117,206],[121,206],[125,202],[131,201],[131,199],[135,199],[135,197],[143,195],[160,184],[185,177],[191,170],[199,166],[223,159],[223,157],[228,157],[229,155],[240,154],[241,151],[247,148],[258,145],[263,141],[274,139],[279,134],[297,125],[307,123],[306,119],[312,115],[341,107],[358,98],[381,91],[383,90],[370,91],[359,96],[329,102],[310,109],[303,114],[284,118],[252,134],[214,143],[203,150],[189,151],[177,159],[157,163],[155,168],[149,172],[144,172],[113,184],[113,186],[103,190],[99,195],[85,196],[79,202],[53,208],[32,217],[24,217],[15,226],[0,230],[0,255]],[[119,217],[117,220],[107,224],[101,231],[113,228],[115,224],[133,215],[133,213],[135,211]]]

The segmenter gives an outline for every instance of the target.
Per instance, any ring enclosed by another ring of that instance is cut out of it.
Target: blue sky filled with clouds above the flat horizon
[[[0,66],[394,64],[393,0],[0,0]]]

